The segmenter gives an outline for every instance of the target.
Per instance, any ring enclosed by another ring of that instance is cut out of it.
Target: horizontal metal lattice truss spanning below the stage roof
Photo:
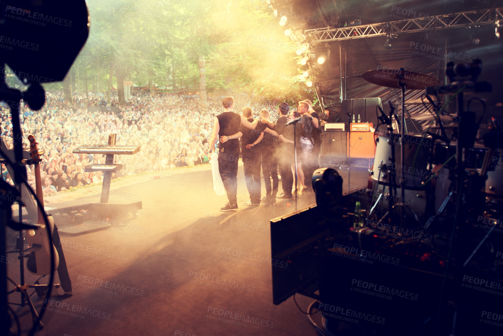
[[[494,24],[497,20],[503,20],[501,13],[503,13],[503,7],[353,27],[309,29],[304,31],[304,35],[309,37],[308,40],[311,43],[316,44],[389,34],[408,34],[463,27],[478,28],[479,26]]]

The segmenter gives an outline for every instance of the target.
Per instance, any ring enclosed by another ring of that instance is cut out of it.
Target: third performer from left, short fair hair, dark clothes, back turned
[[[269,111],[262,109],[260,111],[262,120],[269,120]],[[269,133],[264,134],[264,139],[260,144],[262,152],[262,173],[264,175],[264,182],[266,185],[266,195],[261,201],[264,203],[276,203],[276,194],[278,193],[278,161],[276,159],[276,149],[274,147],[274,140],[276,138]],[[271,188],[271,179],[273,180]]]

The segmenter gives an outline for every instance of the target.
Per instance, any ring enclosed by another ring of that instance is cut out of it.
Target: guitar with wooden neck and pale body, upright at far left
[[[25,240],[26,243],[31,245],[33,248],[28,257],[28,261],[26,262],[26,267],[28,271],[33,274],[38,275],[46,275],[51,273],[51,250],[54,250],[54,270],[57,270],[59,265],[59,256],[58,251],[54,245],[51,244],[49,247],[49,237],[47,237],[47,229],[45,228],[45,221],[42,211],[44,210],[44,196],[42,192],[42,181],[40,179],[40,155],[43,154],[43,151],[38,150],[38,144],[35,141],[35,137],[32,135],[28,136],[28,140],[30,140],[30,156],[32,160],[35,161],[35,185],[38,199],[40,199],[40,203],[42,204],[42,208],[38,209],[38,222],[37,230],[26,230]],[[51,235],[54,231],[54,219],[52,216],[48,216],[49,228],[51,231]]]

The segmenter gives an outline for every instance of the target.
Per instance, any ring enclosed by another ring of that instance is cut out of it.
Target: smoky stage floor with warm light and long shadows
[[[351,181],[347,171],[341,175],[345,193],[349,184],[351,189],[367,185],[366,170],[352,171]],[[108,230],[62,235],[73,296],[51,298],[42,319],[45,327],[37,334],[315,335],[292,298],[272,304],[269,221],[293,212],[294,201],[278,201],[273,207],[242,205],[249,197],[240,169],[239,210],[221,212],[226,197],[216,196],[212,187],[211,171],[126,186],[118,189],[120,194],[143,203],[136,219]],[[51,207],[97,201],[98,197],[85,197]],[[314,194],[305,193],[298,209],[314,203]],[[239,253],[257,255],[258,261]],[[8,264],[8,272],[19,280],[17,262]],[[26,283],[37,278],[28,273]],[[42,299],[36,294],[33,298],[40,309]],[[312,302],[300,295],[296,299],[304,311]],[[19,294],[9,301],[18,302]],[[219,311],[228,313],[221,316]],[[18,313],[27,331],[27,307]],[[235,319],[236,314],[244,318]]]

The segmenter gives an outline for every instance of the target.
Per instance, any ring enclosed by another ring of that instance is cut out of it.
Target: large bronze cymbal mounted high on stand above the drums
[[[386,68],[367,71],[362,77],[369,83],[394,89],[401,89],[400,84],[405,85],[405,90],[422,90],[430,86],[442,85],[440,80],[431,76]]]

